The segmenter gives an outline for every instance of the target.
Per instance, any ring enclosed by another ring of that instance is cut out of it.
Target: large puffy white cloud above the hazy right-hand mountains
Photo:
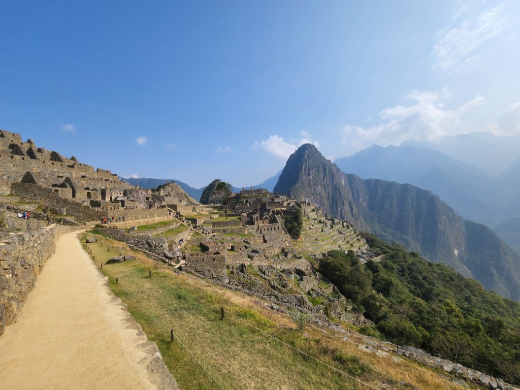
[[[372,144],[400,145],[407,140],[434,141],[447,135],[465,131],[461,116],[483,103],[480,95],[460,107],[445,109],[445,98],[437,92],[412,91],[409,106],[388,107],[380,112],[382,122],[368,128],[346,125],[342,129],[343,145],[355,153]],[[472,129],[468,129],[468,132]],[[473,129],[474,130],[474,129]]]

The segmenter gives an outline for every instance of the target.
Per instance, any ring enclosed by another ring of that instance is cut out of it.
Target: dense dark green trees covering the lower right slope
[[[363,333],[520,384],[520,304],[484,290],[444,264],[365,234],[380,262],[330,251],[320,272],[376,323]]]

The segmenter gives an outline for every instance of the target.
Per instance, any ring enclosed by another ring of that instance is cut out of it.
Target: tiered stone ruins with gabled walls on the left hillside
[[[37,147],[19,134],[0,130],[0,194],[17,194],[83,222],[109,218],[111,223],[151,223],[173,214],[196,215],[202,205],[175,183],[159,193],[120,180],[110,171]]]

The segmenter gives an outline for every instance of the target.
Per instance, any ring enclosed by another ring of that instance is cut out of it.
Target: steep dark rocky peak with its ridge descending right
[[[473,172],[464,164],[459,169]],[[345,174],[310,144],[291,155],[274,190],[306,199],[359,230],[404,244],[486,289],[520,300],[520,258],[490,228],[463,219],[430,191]]]

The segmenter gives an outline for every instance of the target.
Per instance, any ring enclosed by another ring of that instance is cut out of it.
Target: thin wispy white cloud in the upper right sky
[[[465,6],[456,10],[458,18]],[[483,57],[483,46],[499,35],[506,27],[502,6],[487,9],[474,19],[467,19],[453,28],[445,28],[436,34],[432,50],[434,70],[448,73],[464,73],[473,69]],[[482,50],[479,50],[482,49]]]

